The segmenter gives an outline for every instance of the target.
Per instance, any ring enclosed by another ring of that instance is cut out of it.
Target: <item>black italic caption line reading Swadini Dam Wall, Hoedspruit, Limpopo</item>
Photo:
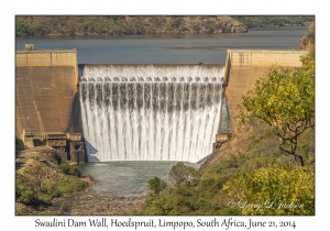
[[[253,230],[255,228],[296,229],[295,220],[262,220],[255,218],[197,218],[187,220],[175,220],[170,218],[150,218],[145,220],[134,218],[89,218],[89,219],[35,219],[34,227],[88,227],[88,228],[117,228],[130,230],[166,229],[166,230],[191,230],[195,228],[219,230]]]

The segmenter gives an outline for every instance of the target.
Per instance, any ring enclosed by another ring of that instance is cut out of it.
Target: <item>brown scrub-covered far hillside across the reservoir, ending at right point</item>
[[[231,16],[33,16],[15,18],[16,36],[242,33]]]

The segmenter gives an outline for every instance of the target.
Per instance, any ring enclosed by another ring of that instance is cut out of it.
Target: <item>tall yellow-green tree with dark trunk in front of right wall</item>
[[[280,140],[279,148],[304,166],[296,151],[298,136],[314,128],[315,59],[309,54],[301,62],[302,67],[294,70],[273,67],[268,78],[257,80],[243,97],[239,117],[244,122],[257,118],[268,123]]]

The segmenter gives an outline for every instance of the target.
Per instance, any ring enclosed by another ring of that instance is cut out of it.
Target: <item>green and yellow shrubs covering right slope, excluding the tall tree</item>
[[[315,215],[314,130],[299,136],[299,151],[309,155],[304,167],[283,155],[265,122],[255,121],[245,132],[243,152],[222,158],[197,177],[163,186],[136,215]]]

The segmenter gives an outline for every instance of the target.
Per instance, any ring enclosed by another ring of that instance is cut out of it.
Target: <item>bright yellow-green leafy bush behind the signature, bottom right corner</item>
[[[223,186],[242,206],[242,215],[315,215],[315,169],[312,165],[268,164],[254,172],[238,173]]]

